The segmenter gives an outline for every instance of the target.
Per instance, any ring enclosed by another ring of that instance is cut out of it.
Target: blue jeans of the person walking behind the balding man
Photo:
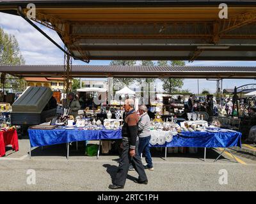
[[[141,154],[143,153],[143,151],[145,152],[145,160],[147,162],[147,166],[148,168],[152,168],[153,164],[152,164],[152,158],[151,158],[151,154],[150,154],[150,147],[149,147],[149,141],[150,141],[151,136],[146,136],[145,138],[140,138],[139,140],[139,155],[141,156]]]

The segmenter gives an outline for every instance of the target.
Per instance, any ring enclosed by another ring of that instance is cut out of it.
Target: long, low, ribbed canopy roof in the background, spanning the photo
[[[16,77],[63,77],[63,66],[0,66]],[[239,66],[84,66],[73,65],[72,77],[256,78],[256,67]]]

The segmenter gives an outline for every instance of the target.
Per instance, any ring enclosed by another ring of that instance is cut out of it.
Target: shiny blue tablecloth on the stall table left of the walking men
[[[56,145],[84,140],[121,139],[121,130],[79,130],[79,129],[29,129],[31,147]]]

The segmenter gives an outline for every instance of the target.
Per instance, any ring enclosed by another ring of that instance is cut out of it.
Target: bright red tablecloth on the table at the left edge
[[[12,149],[19,150],[18,135],[16,129],[0,132],[0,157],[5,155],[6,145],[12,145]]]

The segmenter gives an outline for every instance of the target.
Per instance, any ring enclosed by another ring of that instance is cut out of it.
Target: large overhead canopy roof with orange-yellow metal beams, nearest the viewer
[[[29,2],[75,59],[256,60],[256,1],[0,0],[0,11],[26,13]]]

